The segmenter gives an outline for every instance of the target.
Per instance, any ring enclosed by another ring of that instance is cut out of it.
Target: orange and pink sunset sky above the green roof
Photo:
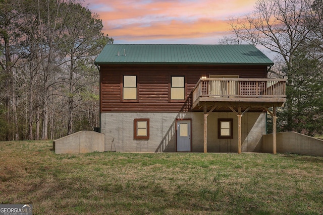
[[[217,44],[256,0],[84,0],[114,43]]]

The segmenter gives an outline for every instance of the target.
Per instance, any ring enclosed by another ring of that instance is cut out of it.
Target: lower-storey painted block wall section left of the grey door
[[[134,119],[149,118],[149,139],[134,139]],[[176,118],[179,113],[102,113],[101,133],[105,134],[105,151],[175,152]]]

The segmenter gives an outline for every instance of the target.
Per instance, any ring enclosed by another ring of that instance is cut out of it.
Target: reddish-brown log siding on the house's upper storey
[[[239,75],[239,78],[266,78],[266,66],[219,65],[100,65],[101,112],[190,111],[191,91],[198,80],[209,75]],[[139,102],[122,102],[123,75],[137,75]],[[170,102],[170,77],[185,76],[187,100]]]

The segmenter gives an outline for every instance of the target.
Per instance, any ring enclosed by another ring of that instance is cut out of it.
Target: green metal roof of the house
[[[253,45],[107,44],[95,59],[94,64],[111,63],[274,64]]]

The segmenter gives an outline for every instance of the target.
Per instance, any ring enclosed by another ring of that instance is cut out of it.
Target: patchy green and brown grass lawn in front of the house
[[[0,142],[0,204],[33,214],[322,214],[323,158],[290,154],[56,155]]]

